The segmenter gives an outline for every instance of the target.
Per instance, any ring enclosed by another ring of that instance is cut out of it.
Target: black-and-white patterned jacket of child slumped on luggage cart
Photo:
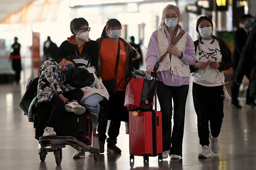
[[[68,91],[64,83],[64,73],[57,62],[46,61],[39,69],[39,81],[37,86],[38,102],[51,101],[53,95]]]

